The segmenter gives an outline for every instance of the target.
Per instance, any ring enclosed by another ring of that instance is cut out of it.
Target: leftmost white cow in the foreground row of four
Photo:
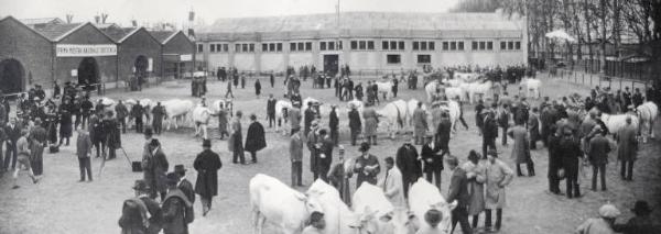
[[[313,212],[322,212],[321,203],[280,180],[258,174],[250,179],[250,207],[253,233],[261,234],[264,222],[284,234],[301,233]]]

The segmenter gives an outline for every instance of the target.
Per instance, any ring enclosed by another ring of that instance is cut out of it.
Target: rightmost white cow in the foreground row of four
[[[412,213],[409,225],[414,226],[414,230],[429,227],[430,224],[424,221],[424,215],[427,211],[435,209],[441,211],[443,218],[437,227],[444,233],[451,231],[451,211],[456,208],[456,202],[448,204],[445,198],[441,196],[438,188],[427,182],[424,178],[418,179],[409,189],[409,209]]]

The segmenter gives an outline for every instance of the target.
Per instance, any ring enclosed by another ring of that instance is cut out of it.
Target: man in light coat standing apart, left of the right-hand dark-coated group
[[[530,144],[528,130],[525,130],[522,122],[519,122],[507,134],[514,140],[511,157],[514,158],[514,164],[517,165],[517,176],[523,176],[521,164],[527,165],[528,176],[534,176],[532,158],[530,157],[530,146],[528,145]]]

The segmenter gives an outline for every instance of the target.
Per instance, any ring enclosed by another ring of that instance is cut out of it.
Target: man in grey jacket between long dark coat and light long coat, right
[[[602,175],[602,191],[606,191],[606,164],[608,164],[608,153],[610,153],[610,144],[608,140],[602,135],[602,126],[596,125],[590,135],[594,135],[589,140],[587,158],[593,165],[593,191],[597,190],[597,175]]]

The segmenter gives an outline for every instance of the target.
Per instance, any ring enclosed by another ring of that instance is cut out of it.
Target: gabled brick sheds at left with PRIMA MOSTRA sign
[[[56,18],[0,19],[0,90],[34,85],[106,83],[136,77],[182,77],[194,71],[195,43],[181,31],[116,24],[65,23]]]

